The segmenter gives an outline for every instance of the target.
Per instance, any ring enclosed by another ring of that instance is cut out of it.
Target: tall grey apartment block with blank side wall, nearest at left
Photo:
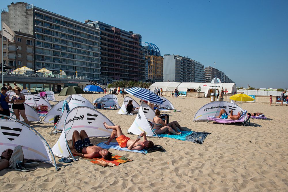
[[[29,5],[11,3],[1,19],[12,30],[35,37],[38,70],[65,71],[67,75],[100,77],[100,31],[85,23]]]

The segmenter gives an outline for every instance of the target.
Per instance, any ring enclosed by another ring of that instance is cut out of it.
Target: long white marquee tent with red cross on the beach
[[[187,92],[188,89],[195,89],[197,90],[199,88],[199,86],[201,87],[201,92],[205,92],[205,97],[209,96],[209,90],[210,89],[214,89],[215,90],[215,83],[177,83],[176,82],[155,82],[150,86],[150,90],[153,91],[154,88],[159,87],[162,88],[163,91],[175,91],[175,88],[178,89],[178,91],[181,92]],[[214,86],[214,88],[213,88]],[[217,83],[217,87],[219,86],[220,90],[223,88],[223,90],[225,90],[227,88],[227,92],[226,93],[232,93],[234,94],[234,92],[237,92],[236,90],[236,85],[235,83]]]

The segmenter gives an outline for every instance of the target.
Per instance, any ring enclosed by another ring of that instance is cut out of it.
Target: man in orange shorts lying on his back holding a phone
[[[148,141],[146,138],[146,132],[143,131],[136,140],[130,139],[123,135],[122,130],[119,125],[108,126],[106,122],[103,123],[106,129],[113,129],[111,136],[108,141],[104,142],[106,145],[109,145],[110,142],[117,136],[116,141],[120,147],[127,147],[129,150],[142,150],[144,148],[150,148],[154,146],[152,141]],[[143,141],[140,141],[143,137]]]

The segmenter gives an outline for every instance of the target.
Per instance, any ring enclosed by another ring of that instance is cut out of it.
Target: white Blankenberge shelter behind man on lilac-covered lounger
[[[207,116],[218,116],[221,109],[224,109],[228,115],[231,111],[236,114],[238,111],[243,111],[238,105],[226,102],[226,101],[215,101],[210,102],[201,107],[195,114],[193,121],[197,120],[207,120]]]

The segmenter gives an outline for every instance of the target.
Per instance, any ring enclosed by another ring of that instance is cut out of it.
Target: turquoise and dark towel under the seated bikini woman
[[[169,137],[173,139],[179,139],[182,141],[191,141],[194,143],[202,144],[204,139],[211,133],[208,132],[194,132],[194,131],[182,131],[180,135],[168,135],[158,134],[159,137]]]

